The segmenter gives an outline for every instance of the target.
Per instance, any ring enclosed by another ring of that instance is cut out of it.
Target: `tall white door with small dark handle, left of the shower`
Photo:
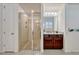
[[[3,50],[18,50],[17,4],[3,4]]]

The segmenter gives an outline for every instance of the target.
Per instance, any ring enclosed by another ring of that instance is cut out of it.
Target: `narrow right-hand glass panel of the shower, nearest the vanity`
[[[40,28],[40,12],[33,13],[33,50],[40,51],[41,28]]]

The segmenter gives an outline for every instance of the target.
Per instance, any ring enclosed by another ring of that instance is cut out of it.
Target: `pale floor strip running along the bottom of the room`
[[[79,52],[65,53],[63,50],[21,51],[18,53],[0,53],[0,55],[79,55]]]

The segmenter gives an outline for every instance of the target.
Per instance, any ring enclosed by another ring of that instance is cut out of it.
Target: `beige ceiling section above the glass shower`
[[[40,3],[20,3],[19,4],[25,12],[41,12],[41,4]]]

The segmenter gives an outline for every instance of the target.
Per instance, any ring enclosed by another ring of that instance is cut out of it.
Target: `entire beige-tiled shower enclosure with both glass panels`
[[[31,10],[31,12],[19,13],[19,51],[41,50],[40,21],[41,21],[41,12]]]

